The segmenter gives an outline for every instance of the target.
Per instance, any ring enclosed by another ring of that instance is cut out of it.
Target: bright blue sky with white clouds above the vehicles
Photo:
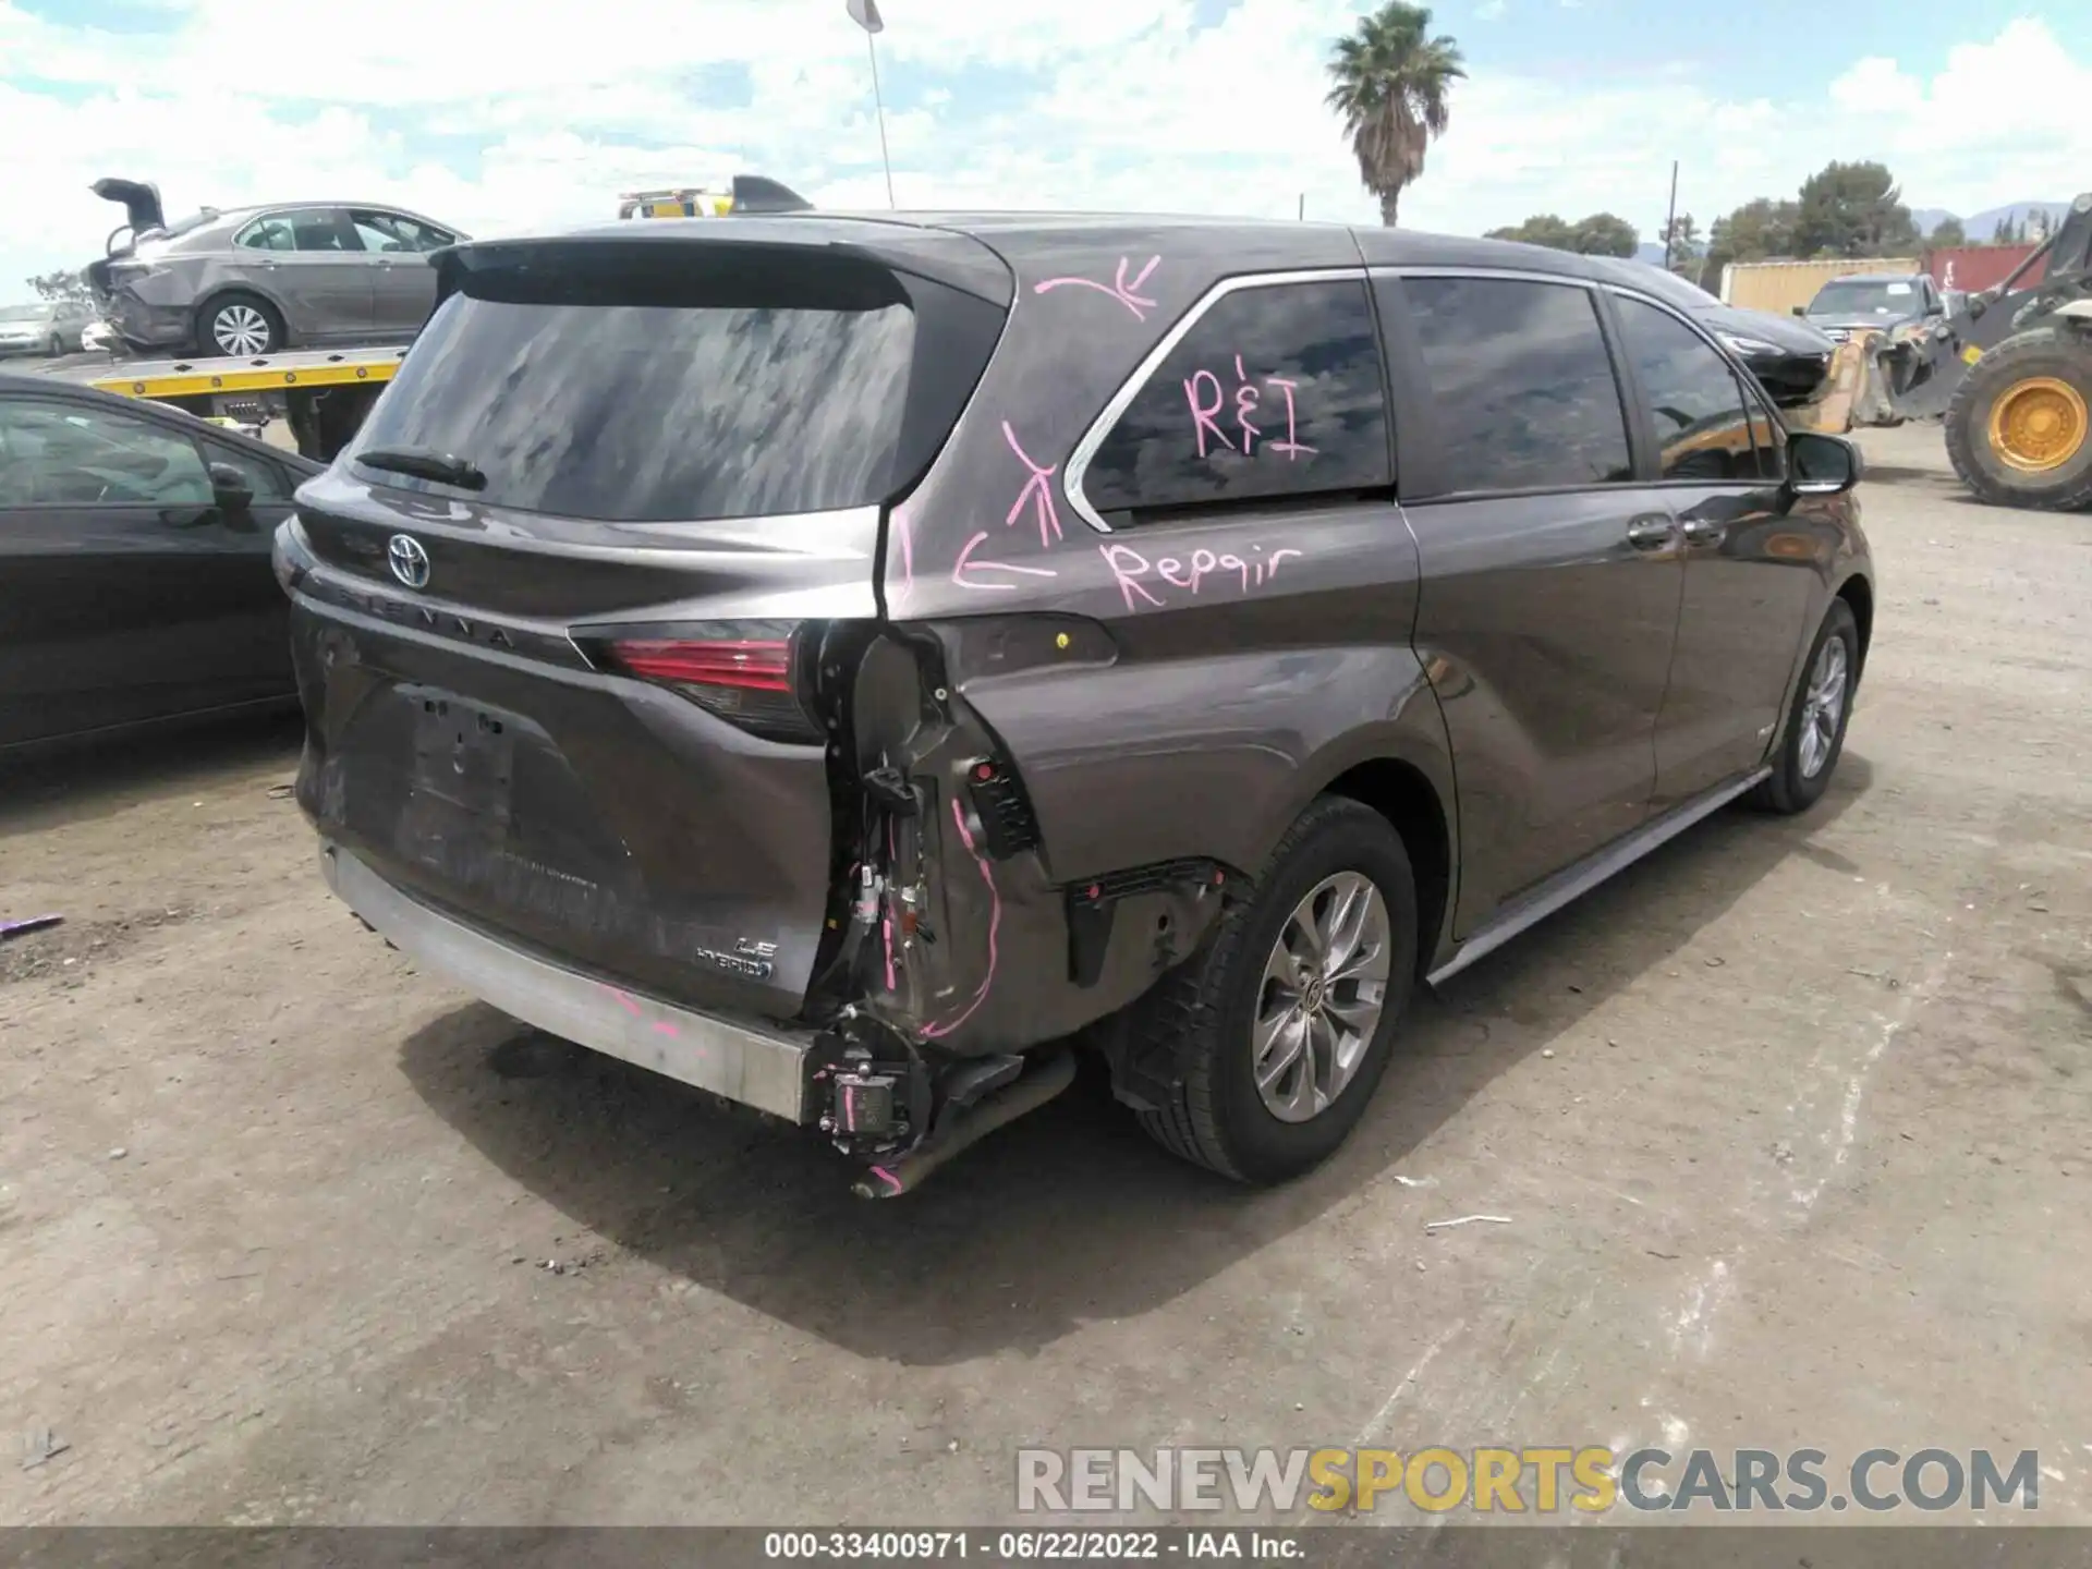
[[[881,4],[902,205],[1374,215],[1320,103],[1360,0]],[[1609,209],[1646,236],[1674,157],[1703,224],[1833,157],[1958,211],[2092,186],[2084,0],[1452,0],[1435,27],[1471,79],[1404,197],[1425,228]],[[471,232],[736,169],[885,205],[843,0],[0,0],[0,136],[27,149],[0,280],[100,249],[100,174],[172,209],[362,197]]]

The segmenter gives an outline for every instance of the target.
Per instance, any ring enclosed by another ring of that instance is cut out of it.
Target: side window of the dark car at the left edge
[[[209,506],[197,444],[149,420],[82,404],[0,400],[8,506]]]

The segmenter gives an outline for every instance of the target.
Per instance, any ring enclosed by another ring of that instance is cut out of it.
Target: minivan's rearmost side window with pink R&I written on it
[[[1098,513],[1393,481],[1366,282],[1236,289],[1155,368],[1090,458]]]

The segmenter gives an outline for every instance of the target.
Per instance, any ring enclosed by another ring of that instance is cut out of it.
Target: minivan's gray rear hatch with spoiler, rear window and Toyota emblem
[[[441,259],[400,374],[278,538],[299,801],[483,929],[789,1019],[854,862],[828,741],[885,506],[1010,282],[956,234],[667,228]]]

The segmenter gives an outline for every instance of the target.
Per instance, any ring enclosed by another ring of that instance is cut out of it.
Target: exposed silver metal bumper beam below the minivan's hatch
[[[335,895],[400,952],[513,1019],[772,1117],[812,1119],[812,1033],[732,1023],[619,992],[433,910],[339,845],[320,847],[320,870]]]

